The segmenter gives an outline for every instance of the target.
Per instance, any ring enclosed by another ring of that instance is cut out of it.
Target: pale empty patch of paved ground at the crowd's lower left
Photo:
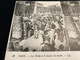
[[[38,39],[35,39],[34,36],[26,39],[26,40],[22,40],[20,42],[20,45],[23,46],[23,49],[26,48],[26,47],[29,47],[29,50],[41,50],[42,49],[42,45],[41,43],[43,43],[43,39],[42,39],[42,36],[39,36]]]

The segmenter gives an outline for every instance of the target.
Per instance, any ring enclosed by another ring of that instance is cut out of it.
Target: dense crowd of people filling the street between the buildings
[[[52,15],[50,13],[37,15],[33,14],[27,20],[26,28],[27,39],[30,38],[31,36],[34,36],[34,39],[38,39],[40,35],[42,36],[43,42],[40,44],[43,45],[43,47],[41,51],[65,50],[63,44],[58,46],[58,48],[55,47],[56,41],[60,41],[62,43],[64,42],[65,35],[63,16]]]

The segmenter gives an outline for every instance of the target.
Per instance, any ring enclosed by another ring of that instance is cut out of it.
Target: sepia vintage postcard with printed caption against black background
[[[16,1],[5,60],[80,60],[80,1]]]

